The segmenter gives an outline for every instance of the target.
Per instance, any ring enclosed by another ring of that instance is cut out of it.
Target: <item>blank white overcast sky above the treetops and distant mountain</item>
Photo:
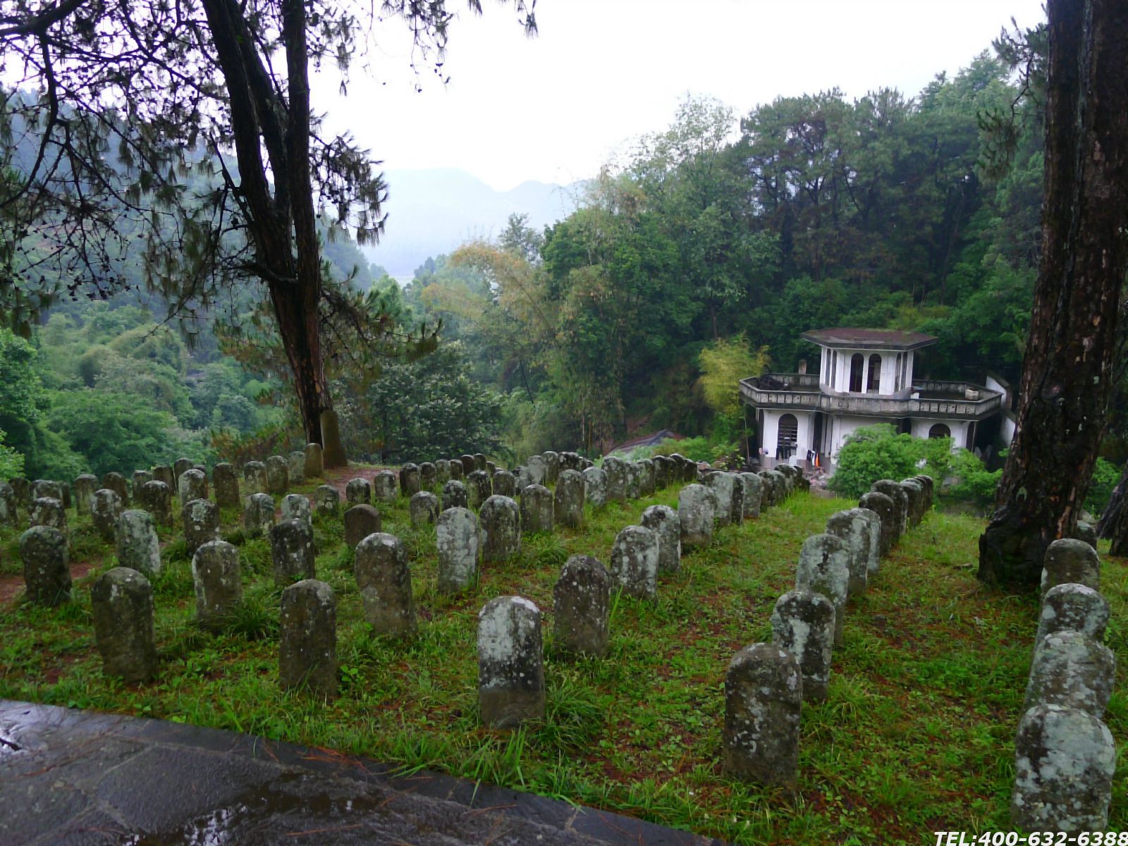
[[[512,6],[483,7],[450,27],[446,87],[420,64],[422,92],[406,29],[378,25],[379,79],[356,68],[344,99],[332,74],[315,82],[329,129],[351,130],[387,169],[457,167],[500,191],[564,184],[666,129],[687,92],[738,116],[834,86],[915,95],[989,49],[1012,17],[1045,19],[1041,0],[538,0],[530,39]]]

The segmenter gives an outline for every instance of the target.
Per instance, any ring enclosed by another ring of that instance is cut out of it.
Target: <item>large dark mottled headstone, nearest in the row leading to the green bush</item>
[[[795,784],[803,677],[786,650],[754,643],[724,676],[724,769],[765,785]]]

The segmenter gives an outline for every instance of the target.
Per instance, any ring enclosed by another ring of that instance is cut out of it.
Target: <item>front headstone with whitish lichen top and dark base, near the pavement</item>
[[[495,729],[545,715],[540,610],[523,597],[497,597],[478,611],[478,711]]]

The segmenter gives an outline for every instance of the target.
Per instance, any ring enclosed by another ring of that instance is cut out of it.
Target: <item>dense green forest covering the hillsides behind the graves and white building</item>
[[[1004,39],[915,97],[830,90],[739,117],[687,98],[567,218],[535,231],[513,215],[403,289],[324,223],[326,275],[389,336],[439,329],[433,349],[374,355],[326,333],[350,457],[596,456],[661,429],[720,455],[748,434],[735,380],[794,371],[813,327],[927,332],[922,376],[1014,380],[1042,195],[1037,69],[1020,59]],[[200,331],[132,289],[60,302],[27,340],[0,332],[0,469],[68,478],[303,440],[262,303],[236,293]]]

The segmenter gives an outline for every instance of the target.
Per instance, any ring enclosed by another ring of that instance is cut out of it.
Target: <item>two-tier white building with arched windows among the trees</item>
[[[913,365],[931,335],[893,329],[816,329],[818,373],[766,373],[740,380],[756,409],[759,447],[769,457],[819,456],[831,464],[860,426],[891,423],[917,438],[951,437],[971,449],[979,426],[1003,408],[1004,394],[962,381],[915,379]]]

